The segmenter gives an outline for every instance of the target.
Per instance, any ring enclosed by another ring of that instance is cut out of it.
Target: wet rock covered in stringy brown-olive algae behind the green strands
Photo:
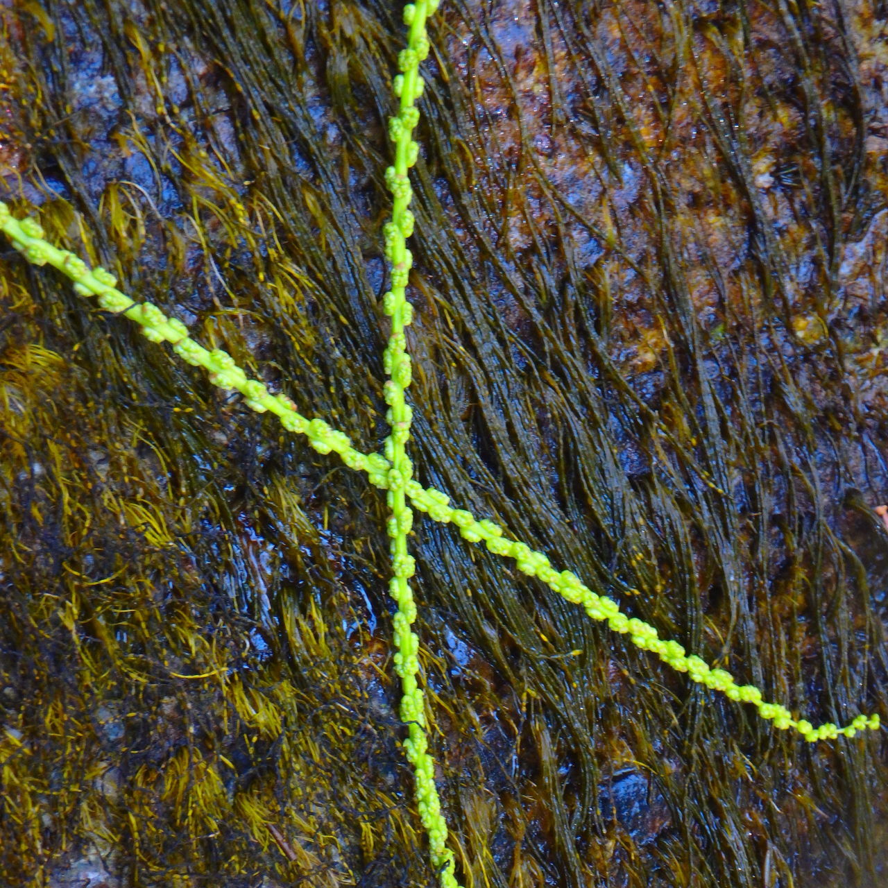
[[[884,715],[875,13],[672,12],[441,11],[416,473],[768,698]],[[4,28],[16,213],[230,353],[248,400],[286,390],[372,451],[388,7]],[[51,274],[7,263],[3,288],[4,876],[432,882],[374,491]],[[450,528],[412,549],[467,884],[884,867],[884,741],[799,744]]]

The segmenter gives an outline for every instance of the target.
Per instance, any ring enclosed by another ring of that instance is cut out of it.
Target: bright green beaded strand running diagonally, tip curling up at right
[[[90,271],[74,253],[59,250],[46,242],[36,219],[19,221],[12,218],[6,204],[0,202],[0,231],[9,237],[12,245],[29,262],[58,268],[75,281],[75,289],[80,295],[99,297],[99,304],[103,308],[110,312],[123,313],[131,321],[138,323],[144,335],[152,342],[169,342],[185,361],[208,370],[213,385],[241,392],[248,407],[258,413],[274,413],[289,432],[304,434],[309,445],[318,453],[335,452],[350,468],[367,472],[371,484],[380,489],[388,488],[392,464],[385,456],[361,453],[353,448],[352,441],[345,432],[330,428],[322,419],[309,420],[301,416],[292,400],[286,395],[273,395],[268,392],[266,385],[250,379],[229,354],[218,349],[210,352],[195,342],[187,335],[187,328],[182,321],[167,318],[156,305],[149,302],[136,303],[119,289],[115,289],[114,277],[104,269],[95,268]],[[448,504],[446,494],[434,488],[424,488],[416,480],[409,480],[404,492],[418,511],[427,512],[435,521],[455,524],[460,535],[470,543],[483,541],[494,554],[515,559],[516,566],[522,573],[538,577],[562,598],[582,605],[593,620],[607,622],[610,629],[628,635],[634,645],[656,654],[673,669],[686,672],[697,684],[720,691],[731,700],[751,703],[762,718],[773,720],[775,727],[791,728],[802,734],[805,740],[817,741],[835,739],[839,734],[853,737],[860,730],[875,730],[879,726],[877,715],[859,715],[849,725],[841,728],[831,723],[813,727],[805,719],[795,719],[780,704],[765,702],[757,687],[738,685],[729,672],[711,669],[694,654],[686,655],[684,647],[678,642],[658,638],[653,626],[622,614],[613,599],[591,591],[571,571],[555,570],[542,552],[534,551],[527,543],[508,539],[509,532],[506,528],[497,527],[487,519],[479,521],[470,511],[454,509]]]

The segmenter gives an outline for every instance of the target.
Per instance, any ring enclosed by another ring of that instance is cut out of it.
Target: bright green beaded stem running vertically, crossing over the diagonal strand
[[[453,852],[447,846],[447,821],[441,814],[440,798],[434,781],[434,759],[429,755],[425,724],[425,701],[417,681],[419,675],[419,636],[411,628],[416,621],[416,602],[408,582],[416,572],[416,562],[408,552],[407,537],[413,527],[413,511],[407,503],[405,488],[413,477],[413,464],[407,454],[412,411],[404,399],[410,385],[410,356],[404,328],[410,323],[413,306],[405,297],[413,257],[407,238],[413,234],[414,217],[408,209],[412,196],[408,170],[416,163],[419,145],[412,134],[419,123],[416,99],[423,91],[419,63],[429,54],[425,20],[438,8],[438,0],[416,0],[404,7],[404,24],[409,28],[407,49],[398,55],[400,74],[392,84],[400,98],[397,115],[389,121],[389,137],[394,142],[394,165],[385,170],[385,183],[392,192],[392,219],[385,225],[385,258],[391,266],[392,289],[383,297],[383,310],[392,319],[392,333],[385,349],[385,418],[392,432],[385,440],[385,456],[392,464],[388,472],[386,500],[392,514],[387,522],[391,539],[392,580],[389,593],[398,603],[393,618],[394,668],[400,676],[400,718],[407,725],[404,751],[413,765],[416,807],[426,835],[432,867],[438,872],[442,888],[457,888]]]

